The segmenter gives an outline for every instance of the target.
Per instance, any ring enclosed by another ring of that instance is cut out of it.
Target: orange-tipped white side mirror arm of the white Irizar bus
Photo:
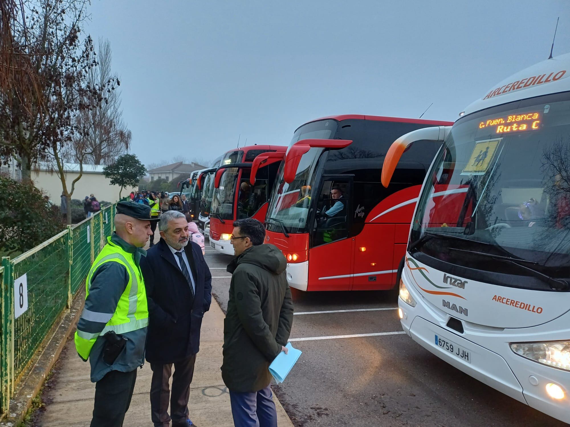
[[[449,135],[450,130],[451,126],[435,126],[433,128],[413,130],[396,139],[396,141],[390,145],[388,153],[386,153],[386,157],[384,158],[381,177],[382,185],[386,188],[388,187],[402,154],[404,154],[404,151],[406,151],[412,143],[420,140],[443,142],[447,135]]]

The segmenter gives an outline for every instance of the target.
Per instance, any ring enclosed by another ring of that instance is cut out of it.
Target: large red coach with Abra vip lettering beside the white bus
[[[451,124],[345,115],[295,131],[265,221],[266,243],[285,254],[292,288],[394,288],[420,188],[441,142],[408,147],[389,188],[382,187],[378,170],[402,134]]]

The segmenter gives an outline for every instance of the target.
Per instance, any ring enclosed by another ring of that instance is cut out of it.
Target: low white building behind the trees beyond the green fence
[[[97,200],[105,202],[117,202],[119,200],[120,186],[111,185],[110,179],[103,175],[105,165],[83,165],[83,175],[75,183],[72,199],[83,200],[85,196],[95,195]],[[79,176],[79,163],[64,163],[66,170],[67,190],[71,191],[71,183]],[[62,195],[62,182],[58,174],[46,165],[39,165],[32,171],[32,180],[36,187],[46,192],[54,204],[60,203]],[[137,187],[123,188],[121,197],[127,196],[131,191],[137,191]]]

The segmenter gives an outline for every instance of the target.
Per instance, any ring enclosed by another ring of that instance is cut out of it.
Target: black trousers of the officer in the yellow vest
[[[95,383],[91,427],[121,427],[131,404],[137,370],[108,372]]]

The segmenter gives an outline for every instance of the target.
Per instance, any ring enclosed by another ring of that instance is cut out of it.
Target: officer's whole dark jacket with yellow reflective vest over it
[[[89,270],[85,307],[75,332],[75,348],[83,360],[89,359],[93,383],[110,371],[131,372],[143,366],[148,326],[146,291],[139,267],[140,257],[146,252],[116,233],[107,241]],[[103,360],[108,344],[104,335],[109,331],[126,340],[112,364]]]

